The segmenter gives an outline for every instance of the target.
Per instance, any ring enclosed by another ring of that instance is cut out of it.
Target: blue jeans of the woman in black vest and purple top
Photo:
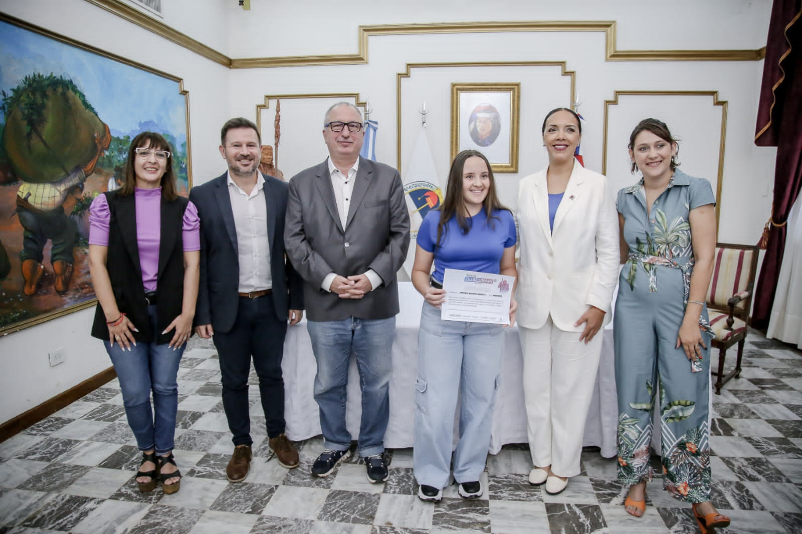
[[[178,411],[178,364],[186,343],[172,350],[168,343],[156,345],[156,305],[148,306],[153,328],[153,342],[137,342],[131,352],[115,343],[103,342],[123,390],[123,404],[128,425],[140,451],[156,449],[164,455],[173,448]],[[151,411],[151,391],[153,410]]]

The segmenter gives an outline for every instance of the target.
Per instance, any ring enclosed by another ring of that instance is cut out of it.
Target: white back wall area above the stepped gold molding
[[[214,1],[224,0],[206,0]],[[225,3],[236,6],[236,0]],[[353,54],[360,25],[512,20],[614,20],[622,50],[755,49],[766,44],[771,11],[771,0],[251,0],[249,11],[230,13],[225,53],[233,58]]]

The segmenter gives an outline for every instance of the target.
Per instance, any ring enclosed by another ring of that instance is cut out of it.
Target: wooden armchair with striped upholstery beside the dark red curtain
[[[715,264],[710,289],[707,290],[707,309],[710,315],[710,326],[715,332],[711,348],[719,349],[719,370],[713,370],[715,376],[715,394],[721,394],[721,386],[730,378],[740,378],[743,343],[747,337],[749,326],[749,309],[755,274],[757,272],[758,249],[750,245],[732,245],[717,243],[715,245]],[[738,343],[738,358],[735,369],[724,374],[724,358],[727,349]],[[712,359],[712,358],[711,358]]]

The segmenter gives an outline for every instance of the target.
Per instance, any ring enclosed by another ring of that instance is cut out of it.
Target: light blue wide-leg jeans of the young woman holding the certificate
[[[460,441],[454,452],[454,479],[479,480],[490,448],[503,354],[501,325],[444,321],[439,309],[423,303],[415,381],[414,466],[419,484],[448,484],[458,396]]]

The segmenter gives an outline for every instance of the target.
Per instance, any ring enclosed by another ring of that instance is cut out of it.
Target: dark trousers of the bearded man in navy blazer
[[[274,438],[284,433],[282,356],[286,332],[287,322],[277,318],[273,295],[268,293],[258,298],[240,297],[233,328],[229,332],[214,333],[222,374],[223,408],[235,446],[253,443],[248,401],[252,356],[253,368],[259,377],[267,435]]]

